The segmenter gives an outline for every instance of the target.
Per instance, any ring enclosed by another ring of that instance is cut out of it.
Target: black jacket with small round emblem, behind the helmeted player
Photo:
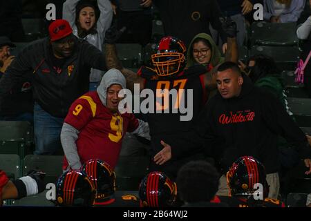
[[[160,12],[165,35],[178,37],[185,45],[198,33],[211,35],[209,23],[218,30],[223,42],[227,36],[219,21],[220,8],[216,0],[155,0],[153,1]]]

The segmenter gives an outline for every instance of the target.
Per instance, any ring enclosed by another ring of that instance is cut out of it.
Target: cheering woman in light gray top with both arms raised
[[[66,0],[63,5],[63,19],[70,23],[73,35],[88,41],[102,50],[105,32],[111,26],[113,9],[109,0]],[[90,90],[95,90],[104,72],[91,69]]]

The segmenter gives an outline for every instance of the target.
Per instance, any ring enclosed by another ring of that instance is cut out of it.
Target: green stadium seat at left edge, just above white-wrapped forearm
[[[21,161],[17,154],[0,154],[0,169],[6,172],[10,180],[21,177]]]

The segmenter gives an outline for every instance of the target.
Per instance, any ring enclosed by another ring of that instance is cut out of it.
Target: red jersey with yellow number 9
[[[65,121],[79,131],[76,141],[80,162],[100,159],[113,169],[120,154],[126,132],[138,128],[138,119],[131,113],[112,113],[96,91],[88,92],[70,106]],[[64,168],[68,162],[65,157]]]

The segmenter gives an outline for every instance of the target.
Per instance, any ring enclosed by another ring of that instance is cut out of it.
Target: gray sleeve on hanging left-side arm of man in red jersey
[[[77,154],[77,145],[75,144],[78,134],[79,131],[76,128],[64,123],[61,132],[61,142],[68,164],[72,169],[81,167],[80,157]]]

